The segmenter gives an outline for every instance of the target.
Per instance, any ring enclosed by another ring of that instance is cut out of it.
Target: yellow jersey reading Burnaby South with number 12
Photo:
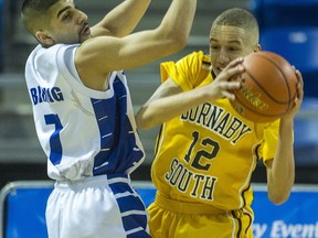
[[[211,61],[194,52],[161,64],[161,79],[183,91],[213,82]],[[257,161],[274,159],[279,120],[255,123],[240,116],[227,98],[206,101],[161,127],[151,178],[163,196],[232,210],[253,201]]]

